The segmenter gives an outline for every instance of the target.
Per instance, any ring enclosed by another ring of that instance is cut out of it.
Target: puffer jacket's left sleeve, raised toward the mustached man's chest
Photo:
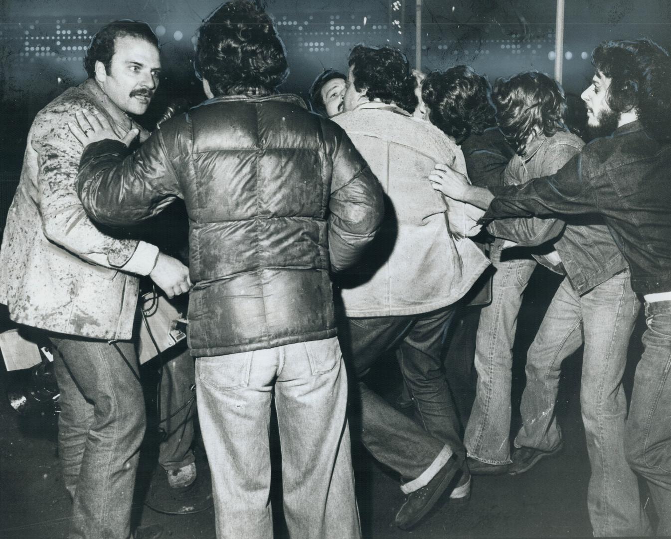
[[[81,157],[77,193],[87,212],[103,224],[127,226],[160,212],[181,194],[162,129],[130,155],[117,140],[89,144]]]

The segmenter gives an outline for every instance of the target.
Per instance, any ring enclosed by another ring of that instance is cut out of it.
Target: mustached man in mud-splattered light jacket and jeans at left
[[[158,86],[158,40],[144,23],[112,22],[91,41],[85,68],[89,79],[30,129],[0,251],[0,302],[14,321],[48,331],[54,347],[68,538],[127,539],[146,423],[131,340],[138,276],[169,297],[190,282],[187,267],[158,247],[93,224],[74,187],[83,146],[68,124],[84,122],[83,111],[119,135],[148,137],[128,114],[144,114]]]

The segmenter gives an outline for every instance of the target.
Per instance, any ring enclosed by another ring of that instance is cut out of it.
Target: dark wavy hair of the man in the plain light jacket
[[[382,103],[394,102],[407,112],[413,112],[419,101],[415,95],[415,76],[399,49],[384,45],[380,48],[356,45],[350,52],[354,88],[366,90],[366,97]]]

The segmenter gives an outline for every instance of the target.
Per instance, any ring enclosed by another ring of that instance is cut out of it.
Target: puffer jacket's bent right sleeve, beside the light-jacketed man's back
[[[340,127],[332,159],[329,255],[331,270],[340,272],[353,265],[375,237],[384,217],[384,199],[380,182]]]

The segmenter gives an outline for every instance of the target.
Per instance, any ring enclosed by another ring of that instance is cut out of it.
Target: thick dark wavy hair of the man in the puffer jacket
[[[289,74],[272,19],[249,0],[224,3],[205,19],[194,67],[214,95],[268,95]]]

